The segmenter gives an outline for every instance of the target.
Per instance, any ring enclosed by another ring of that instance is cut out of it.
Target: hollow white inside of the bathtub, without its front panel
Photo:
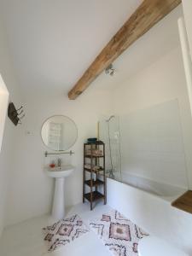
[[[157,183],[146,177],[139,177],[129,172],[122,172],[121,179],[123,183],[131,185],[137,189],[142,189],[148,193],[158,195],[166,201],[174,201],[178,196],[188,190],[178,186],[173,186],[166,183]]]

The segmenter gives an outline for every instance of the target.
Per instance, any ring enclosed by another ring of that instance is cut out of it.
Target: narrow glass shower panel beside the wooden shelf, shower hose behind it
[[[99,122],[99,139],[106,146],[106,174],[121,181],[119,117],[111,115]]]

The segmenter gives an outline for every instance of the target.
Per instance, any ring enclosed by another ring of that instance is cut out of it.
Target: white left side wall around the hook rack
[[[6,35],[3,33],[3,27],[0,22],[0,73],[2,74],[4,83],[9,90],[10,100],[15,102],[15,106],[20,106],[20,91],[15,79],[15,73],[9,57],[9,49],[7,48]],[[2,110],[2,109],[1,109]],[[6,217],[6,201],[9,189],[9,177],[15,151],[15,138],[19,137],[20,127],[15,127],[6,117],[6,124],[3,134],[2,151],[0,153],[0,235],[5,225]]]

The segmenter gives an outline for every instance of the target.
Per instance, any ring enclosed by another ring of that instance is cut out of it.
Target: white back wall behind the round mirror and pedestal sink
[[[88,90],[76,101],[69,101],[62,93],[55,96],[29,95],[26,108],[22,140],[15,152],[15,167],[10,180],[6,224],[50,211],[53,179],[44,173],[44,164],[50,160],[44,159],[44,152],[49,148],[45,148],[40,132],[44,120],[54,114],[68,116],[78,127],[78,140],[71,148],[75,154],[65,155],[63,161],[76,166],[73,175],[67,177],[66,205],[73,206],[82,201],[83,143],[87,137],[96,137],[97,120],[102,113],[108,114],[111,107],[108,92]]]

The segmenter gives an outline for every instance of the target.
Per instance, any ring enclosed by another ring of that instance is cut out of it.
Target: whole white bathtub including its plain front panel
[[[192,214],[172,207],[183,189],[148,179],[125,177],[126,183],[107,178],[108,205],[122,212],[150,235],[159,236],[192,255]]]

